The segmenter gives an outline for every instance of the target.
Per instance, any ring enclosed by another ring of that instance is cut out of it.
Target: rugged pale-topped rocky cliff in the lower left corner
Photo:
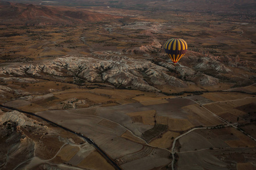
[[[34,129],[33,133],[36,133],[45,127],[18,111],[0,115],[1,169],[13,169],[19,163],[34,157],[35,142],[24,133],[24,128]]]

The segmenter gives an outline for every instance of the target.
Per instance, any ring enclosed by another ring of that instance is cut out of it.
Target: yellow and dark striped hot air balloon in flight
[[[180,60],[187,52],[188,45],[183,39],[170,39],[164,44],[164,50],[166,51],[168,57],[171,58],[174,65]]]

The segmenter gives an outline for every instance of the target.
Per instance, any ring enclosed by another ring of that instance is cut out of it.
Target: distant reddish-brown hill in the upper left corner
[[[71,7],[24,5],[0,1],[0,24],[2,25],[67,25],[74,23],[100,22],[119,18]]]

